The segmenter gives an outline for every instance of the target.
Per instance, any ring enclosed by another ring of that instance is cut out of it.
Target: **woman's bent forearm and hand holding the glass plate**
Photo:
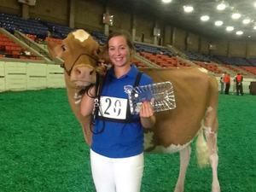
[[[154,103],[154,98],[151,99],[151,103]],[[144,128],[151,128],[155,123],[154,110],[150,102],[143,102],[140,106],[140,118],[141,124]]]

